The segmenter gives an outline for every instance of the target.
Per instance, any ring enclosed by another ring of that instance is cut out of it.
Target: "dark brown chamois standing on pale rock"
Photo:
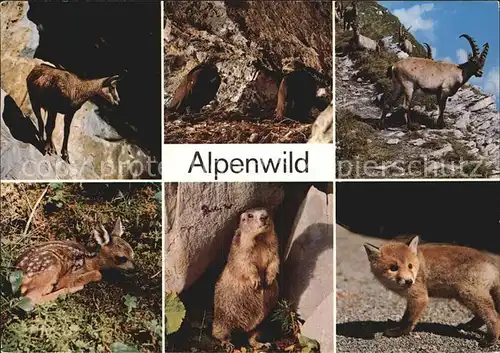
[[[55,153],[52,132],[56,125],[57,113],[64,114],[64,138],[61,157],[69,163],[68,138],[71,121],[76,111],[93,97],[100,96],[112,105],[120,104],[116,84],[119,75],[83,80],[62,68],[39,64],[31,70],[26,78],[31,107],[38,120],[38,134],[43,143],[43,119],[41,108],[47,111],[45,124],[45,153]]]

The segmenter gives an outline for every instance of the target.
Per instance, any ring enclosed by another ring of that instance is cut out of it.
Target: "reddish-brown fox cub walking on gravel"
[[[365,243],[371,271],[388,289],[403,296],[407,306],[398,327],[385,335],[398,337],[415,328],[429,297],[456,299],[474,313],[459,329],[476,330],[486,324],[480,345],[500,336],[500,268],[478,250],[456,245],[425,244],[418,237],[408,244],[390,242],[377,248]]]

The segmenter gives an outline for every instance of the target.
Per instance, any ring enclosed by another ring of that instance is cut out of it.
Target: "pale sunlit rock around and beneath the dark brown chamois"
[[[85,103],[71,124],[68,152],[71,164],[60,156],[43,155],[38,124],[31,109],[26,77],[41,60],[34,58],[39,43],[35,24],[27,18],[25,1],[1,6],[1,173],[2,179],[122,179],[147,174],[150,158],[125,140],[99,116],[98,107]],[[53,140],[60,153],[63,117],[59,114]]]

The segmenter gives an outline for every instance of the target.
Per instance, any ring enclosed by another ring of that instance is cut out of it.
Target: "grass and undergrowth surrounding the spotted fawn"
[[[45,187],[2,184],[2,351],[116,352],[119,342],[140,352],[160,351],[160,184],[52,184],[23,235]],[[125,229],[123,238],[135,252],[134,272],[104,273],[103,281],[33,311],[14,306],[19,294],[12,293],[8,278],[23,249],[46,240],[88,244],[95,219],[102,219],[110,230],[118,216]]]

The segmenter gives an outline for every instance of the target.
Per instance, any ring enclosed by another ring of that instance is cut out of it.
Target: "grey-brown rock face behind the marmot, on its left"
[[[166,186],[166,290],[181,292],[220,256],[248,208],[274,209],[283,189],[268,183],[182,183]]]

